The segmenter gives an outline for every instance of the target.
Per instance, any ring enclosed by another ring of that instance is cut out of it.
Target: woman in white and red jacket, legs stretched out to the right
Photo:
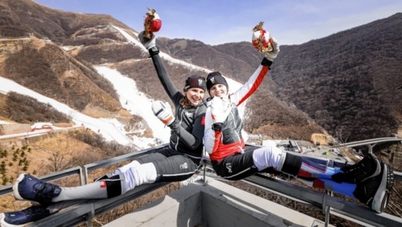
[[[372,154],[355,165],[339,169],[286,153],[276,146],[245,145],[237,106],[261,84],[279,53],[279,44],[273,37],[271,40],[273,51],[265,54],[261,65],[235,92],[228,93],[228,83],[221,73],[212,72],[207,77],[207,89],[212,98],[207,103],[204,146],[214,170],[225,179],[239,180],[273,169],[297,176],[310,186],[357,198],[376,212],[382,212],[392,187],[393,172]]]

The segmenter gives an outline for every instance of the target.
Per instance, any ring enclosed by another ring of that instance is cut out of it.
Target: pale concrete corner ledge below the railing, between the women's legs
[[[104,226],[324,226],[218,180],[196,181]]]

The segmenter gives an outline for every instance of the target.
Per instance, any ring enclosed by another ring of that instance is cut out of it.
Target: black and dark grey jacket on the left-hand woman
[[[183,94],[174,86],[169,74],[159,56],[157,47],[149,50],[159,80],[166,90],[176,109],[175,118],[179,122],[171,127],[170,143],[171,149],[183,152],[194,158],[200,158],[203,154],[203,137],[205,112],[207,107],[204,103],[190,108],[184,108],[180,104]]]

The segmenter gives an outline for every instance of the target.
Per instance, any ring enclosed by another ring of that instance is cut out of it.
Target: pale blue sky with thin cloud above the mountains
[[[147,8],[162,19],[157,36],[217,45],[251,41],[260,21],[280,44],[302,44],[402,12],[400,0],[35,0],[58,10],[108,14],[134,30],[143,28]]]

